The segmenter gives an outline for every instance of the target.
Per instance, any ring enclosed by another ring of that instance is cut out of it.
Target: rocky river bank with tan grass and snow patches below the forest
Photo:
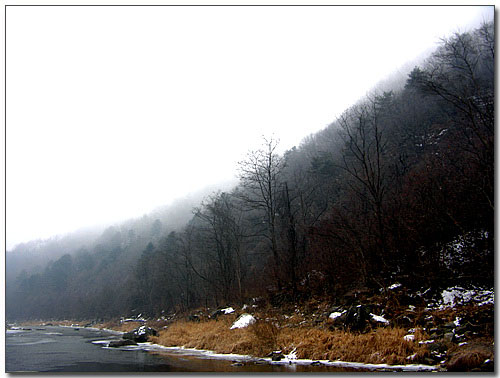
[[[349,306],[331,306],[318,300],[273,306],[256,300],[243,306],[202,308],[158,319],[135,316],[100,323],[66,320],[52,324],[116,332],[145,325],[158,332],[149,337],[152,344],[211,351],[212,357],[220,354],[288,364],[384,364],[388,369],[421,365],[429,368],[420,370],[493,371],[492,291],[471,293],[455,288],[443,291],[438,301],[408,305],[404,302],[408,293],[398,293],[397,285],[391,290],[385,302],[379,296]],[[242,316],[253,321],[235,327]]]

